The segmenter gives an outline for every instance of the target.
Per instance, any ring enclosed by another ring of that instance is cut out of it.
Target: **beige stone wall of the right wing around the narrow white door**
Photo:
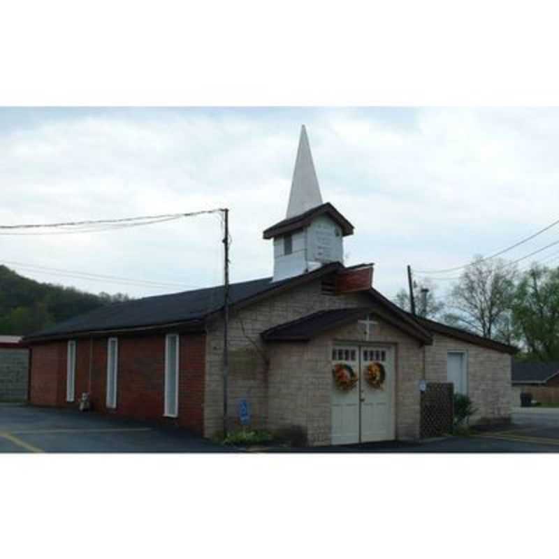
[[[433,335],[433,345],[426,346],[427,379],[447,382],[447,353],[465,351],[468,395],[477,407],[472,423],[509,419],[511,414],[511,356],[493,349]]]

